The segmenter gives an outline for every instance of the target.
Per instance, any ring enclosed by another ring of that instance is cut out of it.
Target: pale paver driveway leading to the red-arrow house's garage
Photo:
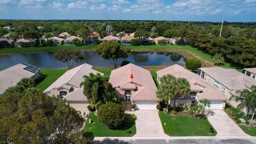
[[[135,110],[136,134],[133,137],[169,137],[164,133],[156,110]]]

